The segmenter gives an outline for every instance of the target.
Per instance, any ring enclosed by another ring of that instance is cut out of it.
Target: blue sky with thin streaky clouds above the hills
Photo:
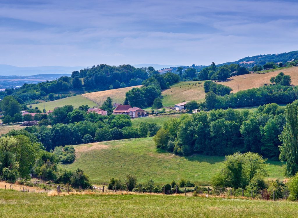
[[[209,65],[298,50],[294,0],[0,0],[0,64]]]

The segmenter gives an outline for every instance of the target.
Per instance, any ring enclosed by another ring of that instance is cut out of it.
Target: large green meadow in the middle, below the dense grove
[[[209,183],[220,170],[224,157],[192,155],[177,156],[157,149],[154,141],[107,141],[75,145],[76,160],[63,168],[83,169],[94,182],[108,182],[111,177],[124,179],[134,174],[138,182],[153,179],[163,184],[181,178],[196,184]],[[270,178],[283,178],[280,161],[269,161]]]

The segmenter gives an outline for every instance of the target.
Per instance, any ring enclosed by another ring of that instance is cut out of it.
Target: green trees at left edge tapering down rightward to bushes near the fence
[[[13,130],[0,138],[0,176],[15,182],[19,177],[30,179],[30,173],[57,183],[74,187],[90,187],[89,178],[82,170],[66,171],[58,167],[58,157],[47,152],[34,134]]]

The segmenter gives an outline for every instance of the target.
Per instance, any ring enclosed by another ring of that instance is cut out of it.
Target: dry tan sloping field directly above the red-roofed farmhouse
[[[111,97],[113,102],[122,104],[125,100],[125,93],[131,90],[134,87],[141,87],[141,85],[125,87],[125,88],[117,88],[99,92],[90,92],[83,94],[84,97],[88,97],[90,100],[97,103],[97,105],[102,105],[107,97]]]

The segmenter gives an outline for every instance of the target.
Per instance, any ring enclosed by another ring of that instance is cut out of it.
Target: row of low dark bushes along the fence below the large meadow
[[[137,178],[134,175],[127,175],[124,179],[124,181],[111,178],[108,183],[108,189],[110,190],[128,190],[128,191],[134,191],[134,192],[153,192],[153,193],[162,193],[165,191],[165,194],[173,194],[176,191],[176,185],[179,188],[184,187],[195,187],[195,184],[186,181],[184,179],[181,179],[178,184],[173,180],[172,183],[167,183],[164,185],[156,185],[154,181],[151,179],[148,182],[141,184],[137,183]],[[183,193],[183,189],[177,189],[178,193]],[[193,190],[187,190],[187,191],[193,191]]]

